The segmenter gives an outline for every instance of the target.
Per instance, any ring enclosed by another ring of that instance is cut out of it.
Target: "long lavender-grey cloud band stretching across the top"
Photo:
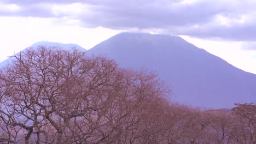
[[[84,27],[158,29],[162,33],[256,40],[256,2],[253,0],[9,0],[18,10],[1,9],[0,15],[56,17],[79,21]],[[0,0],[1,3],[1,0]],[[1,5],[0,5],[1,8]]]

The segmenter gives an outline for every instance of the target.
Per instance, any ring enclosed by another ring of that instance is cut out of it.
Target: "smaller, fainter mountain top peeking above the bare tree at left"
[[[46,47],[56,46],[56,47],[61,47],[61,49],[64,49],[64,50],[72,50],[73,48],[75,48],[82,52],[86,51],[83,47],[81,47],[77,44],[61,44],[61,43],[55,43],[55,42],[50,42],[50,41],[39,41],[37,43],[32,44],[30,47],[36,48],[37,46],[46,46]],[[25,50],[22,50],[22,51],[25,51]],[[0,63],[0,68],[3,67],[5,64],[7,64],[10,61],[11,61],[11,58],[5,59],[3,62]]]

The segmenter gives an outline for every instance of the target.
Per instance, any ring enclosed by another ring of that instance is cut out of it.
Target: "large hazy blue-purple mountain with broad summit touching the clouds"
[[[88,50],[121,67],[155,70],[172,86],[172,100],[200,107],[233,107],[256,102],[256,75],[199,49],[180,37],[121,33]]]

